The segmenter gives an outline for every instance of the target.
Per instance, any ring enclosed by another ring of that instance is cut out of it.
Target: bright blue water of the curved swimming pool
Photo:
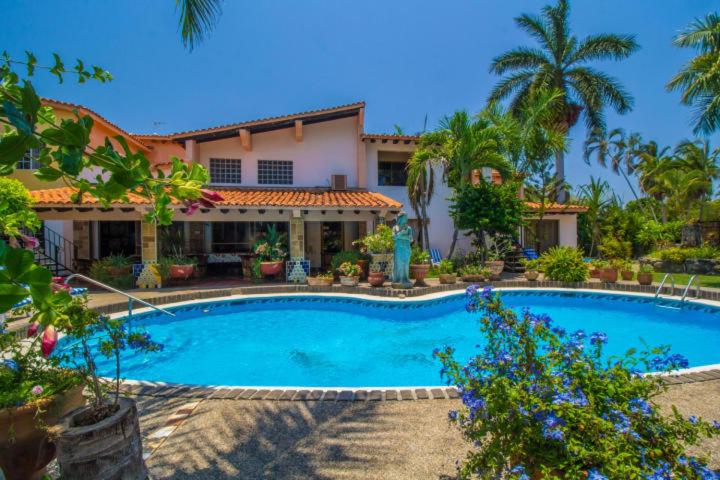
[[[544,312],[568,331],[608,334],[606,352],[670,344],[691,366],[720,363],[720,309],[680,310],[651,298],[579,292],[506,291],[508,306]],[[210,302],[177,317],[137,316],[162,352],[124,358],[124,378],[197,385],[441,385],[435,347],[465,360],[482,343],[464,295],[432,301],[303,296]],[[102,361],[104,374],[112,364]]]

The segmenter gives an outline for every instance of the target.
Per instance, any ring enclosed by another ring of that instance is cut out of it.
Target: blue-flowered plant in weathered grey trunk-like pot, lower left
[[[59,328],[70,339],[65,361],[74,363],[90,402],[67,413],[52,429],[64,479],[145,479],[142,438],[135,400],[120,396],[120,354],[153,352],[162,346],[125,319],[110,319],[86,307],[78,297],[64,307]],[[97,369],[97,355],[111,358],[114,377]]]

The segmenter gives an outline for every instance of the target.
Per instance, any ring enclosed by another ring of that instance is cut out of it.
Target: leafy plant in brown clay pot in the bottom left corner
[[[82,380],[42,353],[40,343],[54,337],[54,329],[41,335],[32,324],[30,338],[21,343],[2,328],[0,322],[0,470],[8,479],[40,478],[55,458],[48,428],[85,402]]]

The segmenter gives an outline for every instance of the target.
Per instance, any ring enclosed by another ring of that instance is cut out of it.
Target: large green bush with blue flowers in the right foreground
[[[687,360],[668,347],[603,360],[604,333],[565,332],[544,314],[505,308],[490,287],[467,290],[467,310],[482,312],[487,340],[467,365],[453,349],[436,350],[464,408],[450,412],[475,443],[459,466],[461,478],[714,479],[686,445],[717,435],[720,424],[663,416],[652,398],[658,376]]]

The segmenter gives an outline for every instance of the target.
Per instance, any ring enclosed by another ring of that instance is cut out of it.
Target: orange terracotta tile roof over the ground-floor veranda
[[[234,207],[306,207],[306,208],[392,208],[402,204],[380,193],[366,190],[331,191],[327,188],[217,188],[223,196],[216,206]],[[33,190],[35,206],[72,205],[70,196],[75,189],[70,187]],[[147,205],[149,201],[134,193],[128,194],[128,202],[117,201],[118,205]],[[92,196],[85,194],[83,204],[97,205]],[[175,202],[177,205],[177,202]]]

